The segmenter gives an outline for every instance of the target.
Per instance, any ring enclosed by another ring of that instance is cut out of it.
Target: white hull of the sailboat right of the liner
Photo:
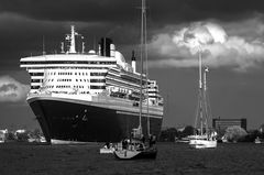
[[[217,147],[217,140],[190,140],[189,145],[194,149],[215,149]]]

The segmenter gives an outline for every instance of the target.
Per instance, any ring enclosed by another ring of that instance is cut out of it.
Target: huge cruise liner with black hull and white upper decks
[[[163,98],[156,80],[136,72],[134,52],[125,62],[111,39],[86,52],[85,37],[72,25],[59,53],[20,63],[31,76],[26,101],[47,142],[118,142],[139,127],[140,110],[143,133],[160,134]]]

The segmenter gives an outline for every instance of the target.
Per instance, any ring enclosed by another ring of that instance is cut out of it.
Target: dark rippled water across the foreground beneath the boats
[[[101,145],[0,145],[0,175],[82,174],[264,174],[264,144],[218,144],[194,150],[184,143],[158,143],[154,161],[119,161],[99,154]]]

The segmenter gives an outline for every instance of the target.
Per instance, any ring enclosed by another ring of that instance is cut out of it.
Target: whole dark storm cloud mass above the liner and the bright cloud
[[[262,13],[264,7],[262,0],[146,2],[148,41],[169,25],[207,19],[237,22]],[[140,6],[141,0],[0,0],[0,69],[19,69],[20,57],[42,53],[43,36],[47,53],[59,51],[70,24],[86,36],[87,50],[109,36],[119,51],[130,53],[140,41]]]

